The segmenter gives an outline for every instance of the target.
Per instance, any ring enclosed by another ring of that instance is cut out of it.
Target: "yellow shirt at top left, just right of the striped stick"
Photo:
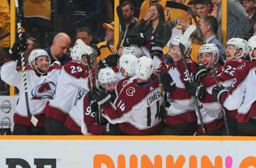
[[[24,0],[25,18],[51,19],[51,0]]]

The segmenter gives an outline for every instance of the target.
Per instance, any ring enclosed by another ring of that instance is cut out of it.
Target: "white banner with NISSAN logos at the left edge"
[[[0,96],[0,129],[11,128],[13,131],[13,114],[19,96]]]

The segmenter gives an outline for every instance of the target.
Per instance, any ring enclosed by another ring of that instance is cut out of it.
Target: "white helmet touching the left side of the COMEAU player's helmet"
[[[122,75],[132,77],[135,75],[135,63],[138,58],[132,54],[123,54],[117,61],[117,68]],[[121,72],[121,69],[125,70],[125,73]]]

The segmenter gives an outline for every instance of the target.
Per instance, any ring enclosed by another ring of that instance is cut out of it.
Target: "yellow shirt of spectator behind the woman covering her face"
[[[151,0],[144,1],[140,6],[140,16],[139,16],[138,22],[140,22],[143,18],[145,18],[146,14],[148,13],[149,6],[151,4],[159,4],[163,6],[165,21],[167,21],[169,17],[169,12],[166,10],[166,5],[165,5],[166,1],[167,0],[158,0],[155,3],[151,2]]]

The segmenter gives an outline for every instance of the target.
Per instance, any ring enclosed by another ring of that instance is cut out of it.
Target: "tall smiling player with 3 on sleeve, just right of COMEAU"
[[[179,48],[182,35],[177,35],[172,39],[171,51],[173,63],[170,64],[167,73],[161,73],[163,90],[166,91],[168,108],[165,125],[162,135],[193,135],[196,132],[195,102],[188,95],[185,83],[188,82],[188,75],[182,61]],[[191,51],[191,39],[185,44],[184,54],[187,57]],[[196,63],[190,58],[186,58],[191,79],[194,79]],[[168,95],[167,94],[167,95]]]

